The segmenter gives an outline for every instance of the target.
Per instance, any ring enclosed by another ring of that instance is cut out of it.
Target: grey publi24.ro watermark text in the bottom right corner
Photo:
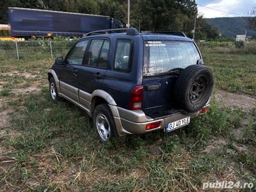
[[[203,189],[252,189],[252,182],[233,182],[233,181],[215,181],[215,182],[204,182]]]

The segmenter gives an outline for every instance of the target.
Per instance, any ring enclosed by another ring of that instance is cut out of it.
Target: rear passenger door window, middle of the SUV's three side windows
[[[106,68],[108,65],[108,52],[108,40],[92,40],[86,56],[86,65]]]

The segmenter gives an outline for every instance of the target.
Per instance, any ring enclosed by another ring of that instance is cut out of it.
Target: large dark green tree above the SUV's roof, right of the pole
[[[194,0],[138,0],[134,11],[141,29],[148,31],[184,30],[184,23],[196,15]]]

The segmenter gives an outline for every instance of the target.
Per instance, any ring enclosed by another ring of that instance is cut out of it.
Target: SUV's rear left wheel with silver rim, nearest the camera
[[[120,140],[108,104],[99,104],[95,108],[93,112],[93,125],[97,129],[100,140],[104,143],[113,140],[113,138]]]

